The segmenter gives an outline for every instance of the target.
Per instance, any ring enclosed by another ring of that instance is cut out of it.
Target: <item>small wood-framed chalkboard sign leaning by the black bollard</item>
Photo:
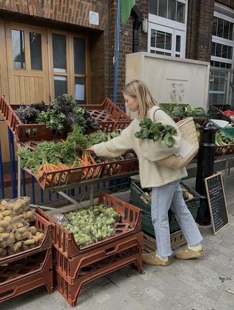
[[[224,186],[221,173],[205,178],[213,233],[216,235],[229,224]]]

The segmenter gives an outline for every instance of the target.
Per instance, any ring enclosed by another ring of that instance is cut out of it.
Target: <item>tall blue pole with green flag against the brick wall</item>
[[[115,72],[114,72],[114,103],[115,104],[117,104],[118,47],[119,47],[119,33],[120,33],[120,8],[121,8],[121,0],[117,0],[116,44],[115,44]]]

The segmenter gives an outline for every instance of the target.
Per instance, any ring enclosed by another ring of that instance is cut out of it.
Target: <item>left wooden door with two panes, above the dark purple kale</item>
[[[49,102],[46,29],[5,22],[10,103]]]

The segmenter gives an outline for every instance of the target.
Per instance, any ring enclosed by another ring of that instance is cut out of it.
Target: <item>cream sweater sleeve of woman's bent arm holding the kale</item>
[[[154,112],[154,111],[153,111]],[[151,113],[151,119],[153,120],[153,114]],[[155,122],[161,122],[163,125],[171,125],[177,129],[177,133],[172,135],[174,138],[174,145],[168,147],[164,141],[154,142],[153,139],[143,139],[141,143],[141,154],[143,157],[149,161],[156,162],[158,160],[164,159],[176,151],[180,147],[181,134],[176,126],[175,122],[162,110],[156,111]]]

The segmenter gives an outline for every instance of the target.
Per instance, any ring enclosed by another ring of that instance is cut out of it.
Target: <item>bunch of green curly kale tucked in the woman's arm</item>
[[[150,118],[142,119],[139,126],[141,130],[135,133],[136,138],[153,139],[154,142],[164,141],[168,147],[174,145],[173,134],[177,133],[175,127],[160,122],[154,123]]]

